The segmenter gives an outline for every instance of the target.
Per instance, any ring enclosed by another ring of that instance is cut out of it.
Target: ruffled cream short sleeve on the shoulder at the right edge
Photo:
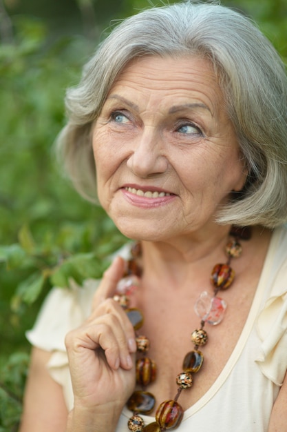
[[[281,386],[287,370],[287,261],[281,265],[259,314],[257,333],[262,343],[256,362],[269,380]]]

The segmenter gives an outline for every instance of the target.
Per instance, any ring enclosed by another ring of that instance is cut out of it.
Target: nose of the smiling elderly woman
[[[147,128],[136,139],[127,167],[138,177],[147,178],[164,173],[169,166],[164,142],[154,128]]]

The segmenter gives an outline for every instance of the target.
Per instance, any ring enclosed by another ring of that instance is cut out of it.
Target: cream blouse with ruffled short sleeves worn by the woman
[[[127,248],[120,255],[127,256]],[[98,280],[83,287],[53,288],[41,308],[30,343],[51,351],[47,368],[63,386],[67,409],[73,407],[65,335],[89,316]],[[242,334],[209,391],[184,412],[179,432],[266,432],[287,370],[287,228],[273,232],[262,275]],[[128,432],[131,412],[124,409],[116,432]],[[142,415],[146,424],[154,418]]]

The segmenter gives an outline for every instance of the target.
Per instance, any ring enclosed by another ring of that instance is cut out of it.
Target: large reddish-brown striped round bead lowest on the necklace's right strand
[[[156,421],[162,429],[175,429],[180,425],[183,409],[175,400],[166,400],[156,411]]]

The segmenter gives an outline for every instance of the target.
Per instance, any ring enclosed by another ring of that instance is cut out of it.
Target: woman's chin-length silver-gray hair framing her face
[[[144,10],[122,21],[67,90],[68,121],[57,141],[76,189],[96,201],[92,124],[131,59],[145,55],[209,59],[222,88],[248,177],[220,210],[221,224],[287,221],[287,79],[284,63],[257,26],[219,3],[186,1]]]

